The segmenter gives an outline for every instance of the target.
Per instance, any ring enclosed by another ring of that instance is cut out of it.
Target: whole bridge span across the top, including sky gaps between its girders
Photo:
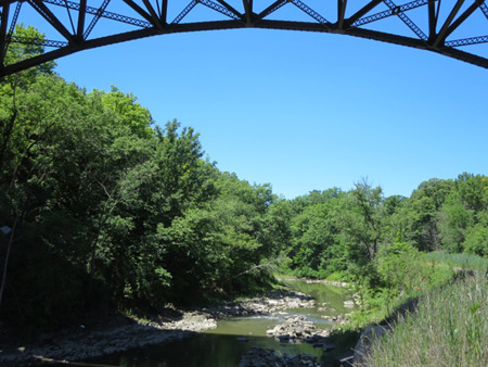
[[[396,1],[400,0],[0,0],[0,77],[132,39],[236,28],[349,35],[488,68],[485,0]],[[20,23],[35,26],[44,38],[18,36]],[[9,48],[16,43],[41,46],[44,52],[5,64]]]

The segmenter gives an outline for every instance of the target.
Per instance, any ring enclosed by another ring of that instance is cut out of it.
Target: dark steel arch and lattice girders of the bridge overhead
[[[361,37],[416,49],[423,49],[488,68],[488,59],[461,51],[455,48],[468,45],[486,43],[486,35],[473,35],[473,37],[461,38],[458,40],[447,39],[449,36],[451,36],[451,34],[455,35],[455,30],[458,29],[458,27],[464,22],[467,22],[471,14],[477,8],[479,8],[480,11],[484,12],[488,20],[488,8],[486,7],[485,0],[465,0],[468,3],[468,7],[463,12],[461,12],[460,15],[458,15],[458,13],[464,0],[457,0],[454,7],[449,13],[448,18],[442,21],[438,20],[438,3],[440,0],[414,0],[411,2],[402,3],[400,5],[395,4],[393,0],[364,0],[364,5],[349,16],[347,16],[348,14],[346,12],[347,0],[336,0],[336,13],[324,14],[328,18],[334,18],[336,16],[336,23],[329,22],[322,14],[319,14],[310,7],[308,7],[306,4],[307,0],[267,0],[269,5],[259,13],[254,12],[255,8],[253,4],[253,0],[242,0],[242,4],[239,8],[231,7],[224,0],[187,0],[187,5],[181,10],[179,15],[169,23],[169,21],[167,21],[167,9],[169,1],[176,0],[163,0],[162,5],[159,5],[160,1],[154,0],[141,0],[138,1],[138,3],[132,0],[124,0],[131,13],[127,12],[127,14],[117,14],[106,11],[106,8],[110,3],[108,0],[104,0],[100,8],[88,7],[87,0],[80,0],[77,2],[67,0],[0,0],[0,30],[3,29],[2,31],[0,31],[0,50],[5,50],[9,42],[37,42],[36,45],[40,42],[39,40],[29,40],[12,35],[9,36],[7,29],[9,29],[9,22],[12,22],[12,15],[9,15],[9,7],[13,3],[26,3],[31,5],[33,9],[38,11],[39,14],[41,14],[59,31],[60,36],[64,38],[64,40],[42,41],[43,46],[59,48],[57,50],[48,51],[41,55],[24,60],[14,65],[3,65],[3,63],[1,63],[0,77],[39,65],[40,63],[47,61],[62,58],[67,54],[97,47],[124,42],[132,39],[187,31],[235,29],[244,27],[331,33]],[[154,3],[156,4],[154,5]],[[180,0],[178,0],[178,3],[180,3]],[[371,14],[381,3],[385,3],[389,9],[376,14]],[[63,25],[63,22],[61,22],[61,20],[54,15],[54,13],[50,8],[47,7],[47,4],[49,4],[50,7],[63,7],[67,10],[78,12],[77,29],[75,29],[76,27],[72,22],[72,28],[74,29],[75,34],[72,34],[67,30],[67,27]],[[228,20],[216,22],[183,23],[185,16],[190,12],[192,12],[193,9],[198,4],[200,7],[205,5],[216,12],[224,14]],[[437,7],[435,4],[437,4]],[[268,18],[278,9],[285,5],[297,7],[298,9],[307,13],[312,18],[312,21],[292,22],[286,20]],[[404,14],[409,10],[424,5],[428,5],[425,8],[425,17],[427,21],[425,23],[428,24],[428,37],[426,36],[426,33],[418,27],[415,23],[413,23]],[[114,22],[126,23],[133,27],[137,27],[138,29],[113,34],[95,39],[87,39],[87,37],[84,37],[86,33],[85,22],[87,14],[93,15],[93,17],[90,26],[86,30],[91,31],[91,29],[97,26],[97,21],[101,17]],[[381,22],[383,18],[388,16],[398,16],[414,31],[416,37],[406,37],[396,35],[394,33],[371,30],[364,28],[364,25],[372,22]],[[441,26],[437,31],[436,24],[438,22],[440,22]],[[11,24],[11,28],[12,26],[13,25]]]

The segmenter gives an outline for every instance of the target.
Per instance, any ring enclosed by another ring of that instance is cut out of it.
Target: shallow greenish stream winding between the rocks
[[[288,355],[305,353],[320,360],[325,353],[322,349],[308,343],[280,343],[275,338],[267,336],[266,331],[283,324],[290,316],[305,316],[316,327],[330,329],[333,322],[322,316],[350,313],[351,308],[345,307],[344,302],[352,300],[352,292],[346,288],[308,283],[304,280],[284,280],[284,283],[294,291],[312,296],[316,305],[310,308],[290,308],[267,316],[223,318],[217,322],[216,329],[206,330],[195,337],[130,350],[90,363],[127,367],[231,367],[239,366],[241,357],[253,346],[272,349]],[[323,307],[328,309],[324,311]]]

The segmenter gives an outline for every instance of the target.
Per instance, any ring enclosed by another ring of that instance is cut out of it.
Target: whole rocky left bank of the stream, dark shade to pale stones
[[[217,327],[223,317],[268,315],[288,308],[310,307],[314,301],[294,291],[275,291],[193,311],[170,311],[150,319],[111,317],[94,326],[42,334],[33,341],[4,342],[1,366],[33,366],[87,360],[130,349],[182,340]],[[7,340],[7,339],[5,339]]]

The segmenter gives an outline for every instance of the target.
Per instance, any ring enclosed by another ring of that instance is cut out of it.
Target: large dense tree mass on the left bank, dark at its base
[[[153,129],[136,101],[47,69],[2,84],[0,225],[17,224],[2,320],[54,326],[269,283],[285,201],[203,160],[192,128]]]

